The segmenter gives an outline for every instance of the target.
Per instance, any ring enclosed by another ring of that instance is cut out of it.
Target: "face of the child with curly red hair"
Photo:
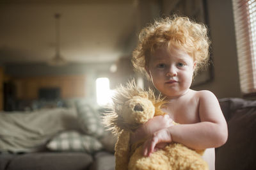
[[[185,94],[193,79],[195,62],[182,50],[156,50],[148,63],[147,72],[156,89],[168,98]]]

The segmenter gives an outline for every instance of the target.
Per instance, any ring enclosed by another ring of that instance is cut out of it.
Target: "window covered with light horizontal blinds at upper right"
[[[256,0],[233,0],[241,91],[256,94]]]

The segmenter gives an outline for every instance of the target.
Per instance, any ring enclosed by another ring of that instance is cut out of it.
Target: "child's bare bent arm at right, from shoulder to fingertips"
[[[144,155],[150,155],[157,143],[182,143],[189,148],[202,150],[216,148],[227,141],[227,123],[217,98],[209,91],[200,91],[200,123],[175,125],[159,130],[144,144]]]

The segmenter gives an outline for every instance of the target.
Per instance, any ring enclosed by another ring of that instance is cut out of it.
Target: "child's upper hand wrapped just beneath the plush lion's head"
[[[172,122],[173,120],[168,114],[165,114],[164,116],[155,116],[141,125],[141,127],[131,135],[131,144],[136,143],[136,141],[139,141],[147,136],[151,136],[158,130],[172,126]]]

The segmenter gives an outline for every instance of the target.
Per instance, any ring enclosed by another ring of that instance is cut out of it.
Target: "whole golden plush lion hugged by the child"
[[[145,141],[130,144],[130,135],[153,116],[164,115],[160,107],[164,100],[154,91],[144,91],[134,81],[116,89],[113,107],[104,116],[104,123],[118,135],[115,145],[116,170],[119,169],[208,169],[202,159],[204,151],[195,151],[183,144],[170,143],[144,157],[142,145]]]

